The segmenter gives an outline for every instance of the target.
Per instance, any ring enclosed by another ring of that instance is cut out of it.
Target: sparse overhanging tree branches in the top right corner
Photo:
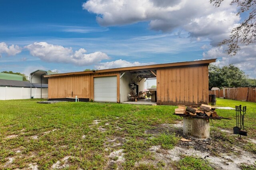
[[[217,8],[224,0],[210,0]],[[232,29],[230,37],[219,45],[228,45],[226,53],[231,57],[240,50],[240,44],[249,45],[256,42],[256,0],[232,0],[230,5],[239,7],[237,16],[249,12],[249,16],[237,27]]]

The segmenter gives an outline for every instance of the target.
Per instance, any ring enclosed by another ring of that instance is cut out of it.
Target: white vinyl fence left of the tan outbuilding
[[[32,88],[34,98],[41,98],[41,88]],[[42,88],[42,98],[48,98],[48,88]],[[30,99],[30,88],[0,87],[0,100]]]

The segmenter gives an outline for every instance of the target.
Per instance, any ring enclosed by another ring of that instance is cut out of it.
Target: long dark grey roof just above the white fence
[[[0,86],[8,87],[30,87],[30,82],[19,80],[4,80],[0,79]],[[41,88],[41,84],[32,83],[32,88]],[[42,84],[42,88],[48,88],[48,84]]]

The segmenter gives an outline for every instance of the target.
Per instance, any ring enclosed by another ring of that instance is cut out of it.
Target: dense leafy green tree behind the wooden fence
[[[248,87],[252,86],[248,77],[238,67],[230,64],[228,66],[209,66],[209,88],[213,87]]]

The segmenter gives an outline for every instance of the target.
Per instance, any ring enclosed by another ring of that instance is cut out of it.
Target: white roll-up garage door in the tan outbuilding
[[[117,102],[117,77],[94,77],[94,101]]]

